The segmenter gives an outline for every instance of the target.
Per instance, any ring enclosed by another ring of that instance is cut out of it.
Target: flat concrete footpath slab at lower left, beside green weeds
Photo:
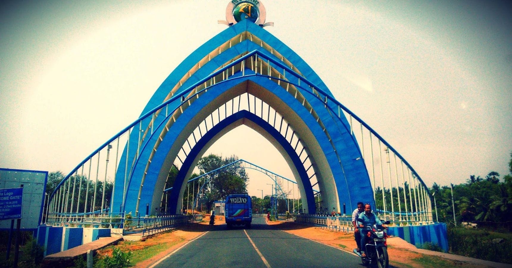
[[[75,259],[78,256],[86,257],[87,251],[96,251],[105,246],[117,244],[122,241],[120,236],[115,237],[101,237],[98,240],[89,242],[87,244],[76,246],[75,248],[51,254],[42,259],[41,267],[70,267],[74,265]]]

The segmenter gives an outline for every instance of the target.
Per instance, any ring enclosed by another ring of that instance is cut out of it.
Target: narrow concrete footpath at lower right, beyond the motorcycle
[[[455,254],[450,254],[450,253],[442,253],[442,252],[438,252],[438,251],[418,249],[418,248],[416,248],[416,246],[401,239],[400,237],[388,238],[387,242],[388,242],[388,245],[395,246],[396,248],[407,249],[409,251],[413,251],[413,252],[417,252],[417,253],[421,253],[421,254],[425,254],[425,255],[437,256],[437,257],[450,259],[450,260],[456,260],[456,261],[464,261],[464,262],[468,262],[468,263],[484,265],[484,266],[489,266],[489,267],[497,267],[497,268],[511,268],[512,267],[512,265],[506,264],[506,263],[481,260],[481,259],[465,257],[465,256],[460,256],[460,255],[455,255]]]

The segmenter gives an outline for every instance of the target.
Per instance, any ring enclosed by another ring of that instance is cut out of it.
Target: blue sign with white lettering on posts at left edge
[[[22,219],[22,202],[23,202],[23,184],[20,188],[0,189],[0,220],[11,220],[11,230],[9,233],[9,241],[7,245],[7,256],[9,259],[11,248],[11,237],[14,220],[16,219],[16,242],[14,252],[14,266],[18,264],[19,250],[19,226]]]

